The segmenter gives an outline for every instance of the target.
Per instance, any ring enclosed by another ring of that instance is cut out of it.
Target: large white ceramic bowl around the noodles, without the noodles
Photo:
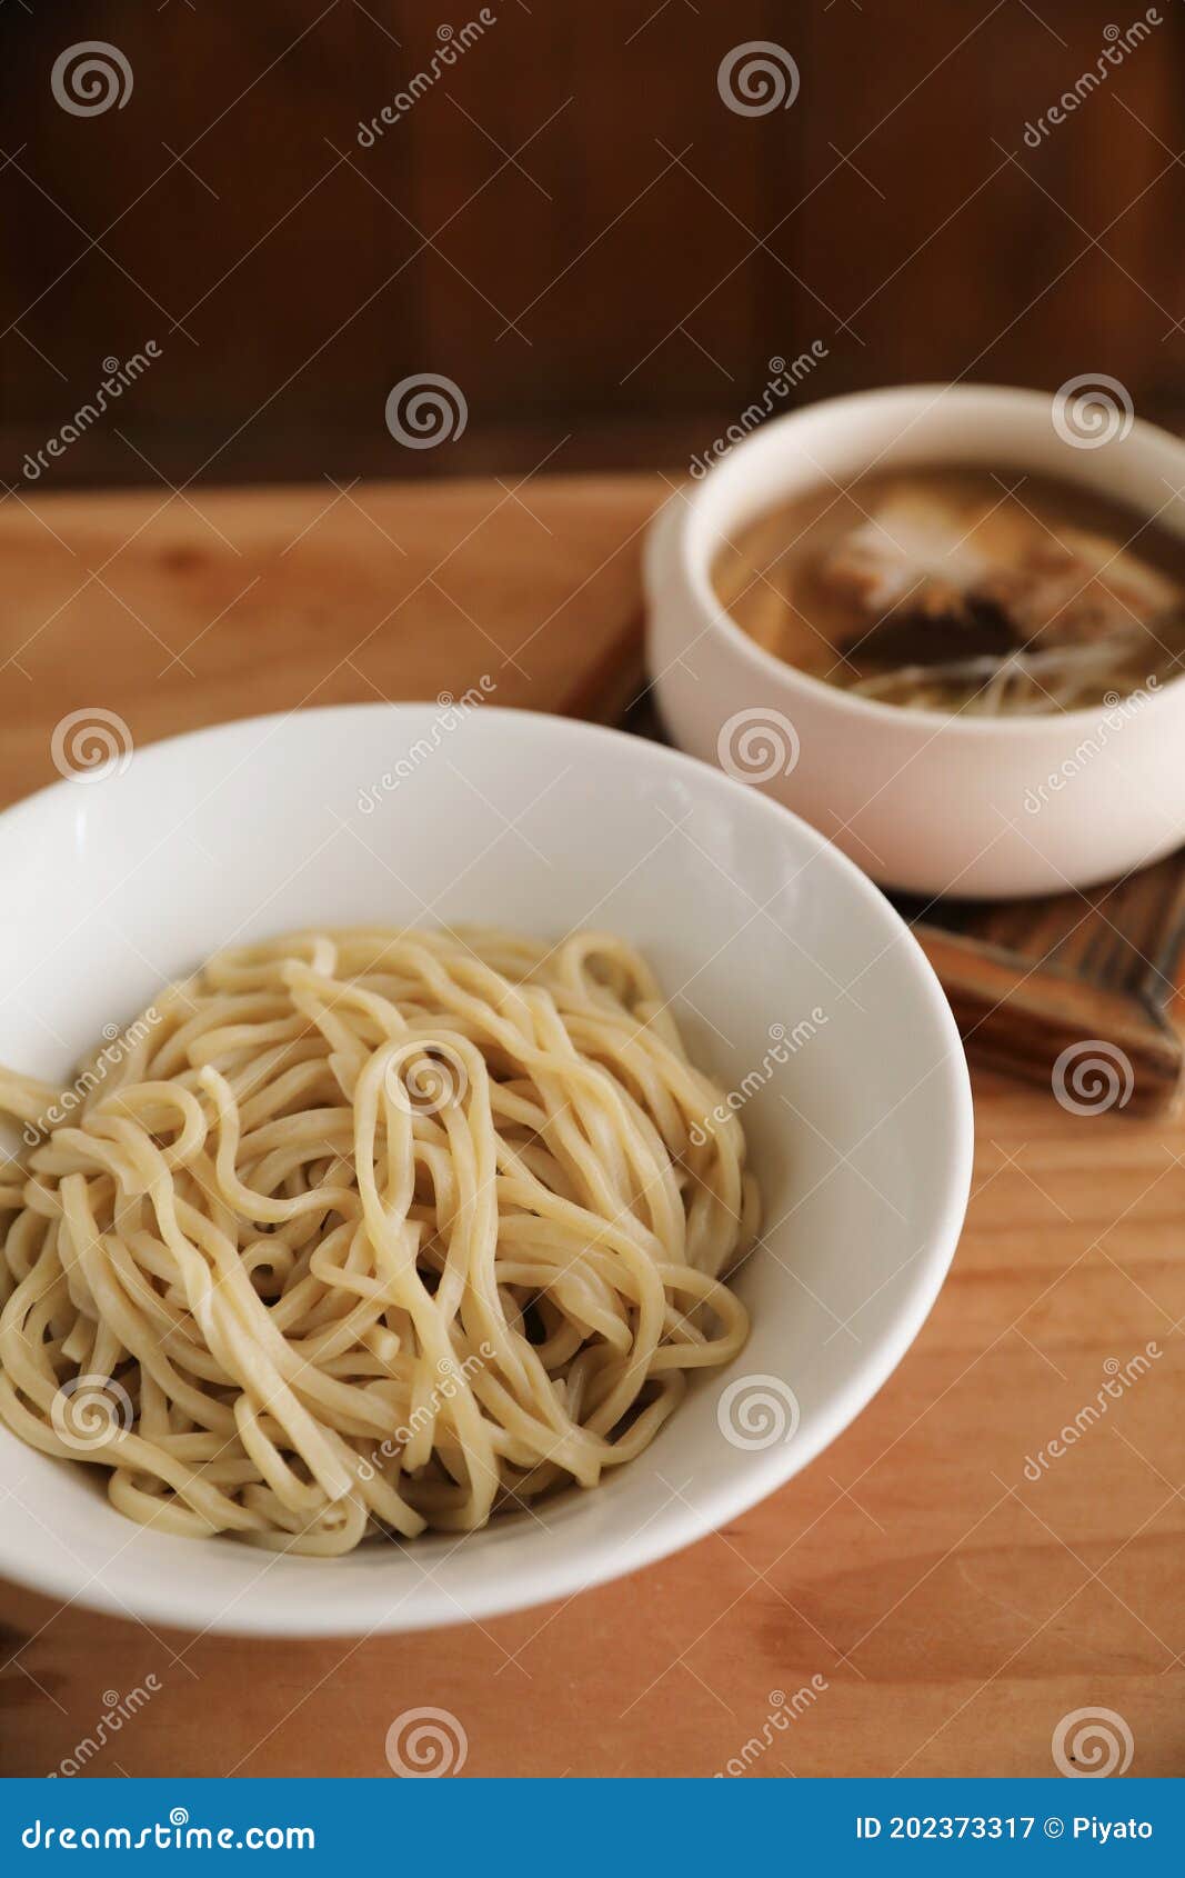
[[[881,1388],[943,1283],[971,1097],[943,992],[875,886],[757,791],[654,744],[492,706],[351,706],[137,749],[0,817],[0,1061],[69,1080],[163,980],[310,926],[597,926],[642,948],[744,1099],[766,1230],[753,1330],[593,1491],[340,1559],[156,1532],[96,1467],[0,1427],[0,1574],[154,1624],[280,1636],[488,1619],[736,1519]]]

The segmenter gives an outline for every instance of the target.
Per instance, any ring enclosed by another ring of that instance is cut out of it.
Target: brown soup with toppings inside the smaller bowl
[[[1076,710],[1183,669],[1185,543],[1022,470],[828,483],[738,530],[712,584],[766,652],[888,704]]]

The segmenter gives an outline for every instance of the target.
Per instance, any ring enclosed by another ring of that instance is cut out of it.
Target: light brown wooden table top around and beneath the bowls
[[[88,706],[148,742],[486,674],[498,702],[612,712],[661,494],[6,501],[0,793],[53,779],[53,727]],[[1185,1773],[1185,1125],[1072,1116],[990,1074],[975,1097],[971,1211],[930,1322],[734,1527],[562,1606],[366,1641],[150,1632],[4,1587],[4,1773],[68,1763],[111,1698],[154,1683],[88,1773],[385,1775],[413,1707],[456,1718],[466,1775],[1048,1775],[1063,1718],[1100,1707],[1132,1775]]]

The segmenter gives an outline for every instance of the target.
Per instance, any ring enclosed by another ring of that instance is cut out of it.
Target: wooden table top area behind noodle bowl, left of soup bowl
[[[53,727],[135,744],[225,717],[460,697],[616,716],[640,674],[657,477],[51,496],[0,505],[0,798]]]

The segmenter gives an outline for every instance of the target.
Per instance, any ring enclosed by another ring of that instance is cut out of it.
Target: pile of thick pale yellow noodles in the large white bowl
[[[471,1531],[746,1341],[740,1123],[605,933],[227,950],[0,1110],[0,1416],[167,1532]]]

